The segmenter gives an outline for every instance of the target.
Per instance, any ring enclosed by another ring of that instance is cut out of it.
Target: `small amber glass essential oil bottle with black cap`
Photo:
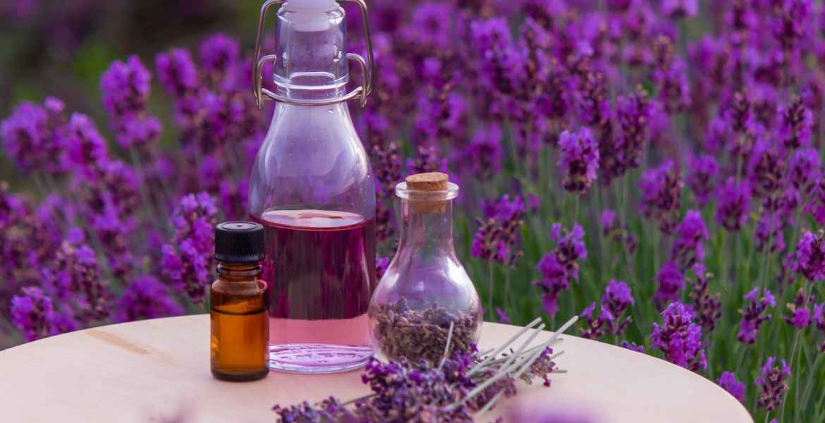
[[[257,380],[269,373],[263,227],[224,222],[214,229],[218,280],[210,289],[211,367],[215,378]]]

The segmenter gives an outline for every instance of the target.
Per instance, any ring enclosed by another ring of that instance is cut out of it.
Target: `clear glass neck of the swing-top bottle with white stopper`
[[[342,7],[281,7],[274,79],[276,92],[296,100],[325,100],[347,92],[347,26]]]

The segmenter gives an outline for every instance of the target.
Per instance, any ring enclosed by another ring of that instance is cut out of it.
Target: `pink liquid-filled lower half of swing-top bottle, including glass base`
[[[264,279],[270,368],[330,373],[365,364],[375,280],[375,219],[330,210],[268,210]]]

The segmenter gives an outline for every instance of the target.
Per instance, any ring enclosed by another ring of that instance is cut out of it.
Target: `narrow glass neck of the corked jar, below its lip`
[[[399,250],[455,255],[453,200],[422,204],[421,201],[401,199],[400,213]]]

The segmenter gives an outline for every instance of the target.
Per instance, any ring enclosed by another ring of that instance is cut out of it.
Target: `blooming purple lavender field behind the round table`
[[[40,16],[10,3],[0,19]],[[755,421],[825,421],[821,3],[370,2],[375,90],[350,107],[379,274],[395,184],[448,172],[486,320],[580,315],[570,333],[709,378]],[[126,42],[70,97],[0,83],[21,99],[0,107],[0,348],[208,310],[213,226],[247,218],[271,120],[250,89],[258,6]]]

